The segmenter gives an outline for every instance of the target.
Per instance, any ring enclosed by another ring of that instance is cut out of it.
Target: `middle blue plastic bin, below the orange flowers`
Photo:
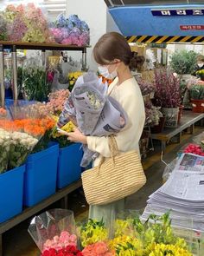
[[[55,193],[58,156],[57,143],[51,143],[49,148],[29,155],[24,180],[24,206],[32,207]]]

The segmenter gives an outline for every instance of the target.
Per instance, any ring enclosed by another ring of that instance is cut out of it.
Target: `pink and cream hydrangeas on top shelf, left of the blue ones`
[[[17,6],[10,4],[4,10],[3,16],[8,23],[10,41],[54,43],[46,18],[34,3]]]

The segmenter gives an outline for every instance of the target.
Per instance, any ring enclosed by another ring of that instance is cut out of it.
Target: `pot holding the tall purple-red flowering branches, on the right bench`
[[[165,128],[176,128],[178,126],[179,108],[162,108],[163,115],[166,117]]]

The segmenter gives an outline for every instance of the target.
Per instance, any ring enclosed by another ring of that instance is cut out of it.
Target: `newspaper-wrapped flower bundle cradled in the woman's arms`
[[[107,94],[107,84],[93,72],[88,72],[75,83],[61,113],[58,126],[75,120],[84,135],[108,136],[124,128],[127,115],[120,104]],[[82,167],[87,167],[99,154],[83,146]]]

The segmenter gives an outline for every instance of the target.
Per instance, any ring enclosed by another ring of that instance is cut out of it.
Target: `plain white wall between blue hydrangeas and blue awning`
[[[67,15],[77,14],[80,19],[88,23],[91,30],[91,45],[97,43],[99,37],[106,32],[106,5],[101,0],[67,0]],[[73,53],[72,56],[80,59],[80,53]],[[87,63],[90,69],[97,69],[92,59],[92,49],[87,49]]]

